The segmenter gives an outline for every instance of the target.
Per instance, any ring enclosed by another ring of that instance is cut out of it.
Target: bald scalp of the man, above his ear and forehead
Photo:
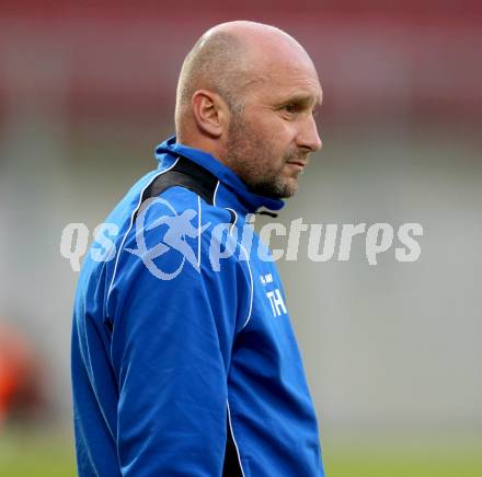
[[[175,108],[177,137],[183,138],[190,127],[191,102],[197,90],[218,94],[231,112],[240,113],[250,86],[266,81],[274,62],[288,65],[294,56],[311,62],[301,45],[275,26],[234,21],[208,30],[181,69]]]

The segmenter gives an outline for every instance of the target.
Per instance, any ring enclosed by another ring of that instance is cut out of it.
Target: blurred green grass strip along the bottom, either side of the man
[[[395,444],[324,442],[329,477],[481,477],[482,440],[414,449]],[[71,437],[55,431],[0,433],[0,477],[73,477]]]

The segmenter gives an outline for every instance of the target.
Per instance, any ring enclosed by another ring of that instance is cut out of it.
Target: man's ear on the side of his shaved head
[[[211,138],[221,137],[229,121],[226,102],[211,91],[197,90],[193,94],[191,104],[198,129]]]

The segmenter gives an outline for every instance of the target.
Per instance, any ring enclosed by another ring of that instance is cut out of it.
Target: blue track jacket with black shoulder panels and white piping
[[[79,476],[323,476],[282,282],[245,221],[283,201],[174,137],[156,155],[79,277]]]

